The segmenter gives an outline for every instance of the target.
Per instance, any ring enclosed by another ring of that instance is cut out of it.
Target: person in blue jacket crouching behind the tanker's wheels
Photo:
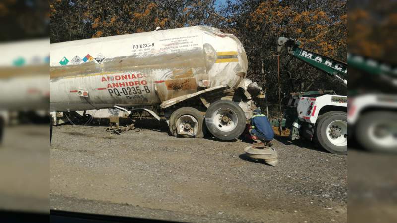
[[[251,126],[249,131],[251,139],[258,144],[272,146],[274,139],[274,131],[270,125],[269,119],[262,114],[260,109],[255,109],[251,118]]]

